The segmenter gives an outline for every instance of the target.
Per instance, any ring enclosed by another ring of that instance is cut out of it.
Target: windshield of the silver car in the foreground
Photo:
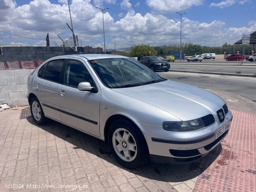
[[[141,63],[128,58],[108,58],[89,62],[101,82],[109,88],[142,86],[167,80]]]

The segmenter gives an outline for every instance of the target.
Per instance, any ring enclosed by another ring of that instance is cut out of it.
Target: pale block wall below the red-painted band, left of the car
[[[27,101],[27,77],[34,69],[0,70],[0,104],[25,106]]]

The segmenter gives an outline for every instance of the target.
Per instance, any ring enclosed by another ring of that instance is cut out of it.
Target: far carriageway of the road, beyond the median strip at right
[[[194,64],[195,63],[195,64]],[[238,62],[237,62],[238,63]],[[213,65],[203,65],[204,62],[189,62],[189,64],[179,65],[179,64],[171,64],[170,70],[185,70],[185,71],[193,71],[193,72],[214,72],[214,73],[238,73],[241,74],[249,74],[255,75],[256,74],[256,65],[255,66],[243,66],[243,65],[225,65],[225,62],[222,65],[214,65],[216,63],[212,63]],[[244,63],[245,65],[247,63]]]

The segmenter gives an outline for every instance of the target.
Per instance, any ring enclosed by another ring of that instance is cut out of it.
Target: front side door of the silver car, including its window
[[[81,82],[89,82],[91,86],[96,87],[96,81],[85,65],[82,60],[67,61],[63,83],[59,87],[61,119],[67,125],[100,136],[101,89],[98,89],[97,93],[92,93],[77,88]]]

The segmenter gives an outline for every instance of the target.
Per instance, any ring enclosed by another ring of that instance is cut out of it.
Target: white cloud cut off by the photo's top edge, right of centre
[[[175,13],[192,6],[200,6],[204,0],[146,0],[146,3],[158,13]]]

